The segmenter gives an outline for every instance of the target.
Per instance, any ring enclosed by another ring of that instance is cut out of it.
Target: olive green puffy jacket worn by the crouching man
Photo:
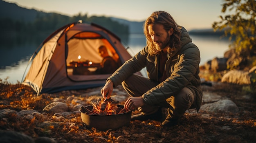
[[[182,48],[179,51],[168,53],[166,62],[168,78],[156,87],[148,90],[142,97],[148,105],[153,106],[177,94],[182,88],[187,87],[195,95],[193,107],[196,107],[198,111],[202,103],[202,89],[198,75],[200,51],[192,43],[189,33],[184,27],[182,27],[181,32]],[[148,46],[144,47],[115,71],[108,80],[110,79],[116,87],[127,77],[146,66],[148,77],[151,80],[157,81],[157,60],[159,55],[151,56],[148,54],[148,50]]]

